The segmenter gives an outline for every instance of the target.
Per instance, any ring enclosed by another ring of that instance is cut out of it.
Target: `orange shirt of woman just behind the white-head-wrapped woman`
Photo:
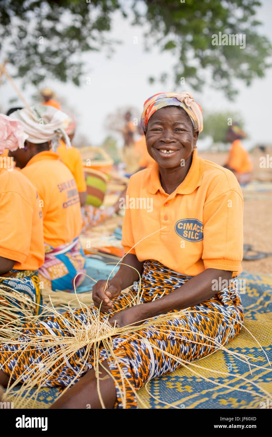
[[[81,153],[75,147],[66,148],[65,142],[61,140],[57,153],[62,159],[62,162],[71,170],[73,177],[76,180],[76,185],[79,193],[86,191],[86,181],[82,165]]]

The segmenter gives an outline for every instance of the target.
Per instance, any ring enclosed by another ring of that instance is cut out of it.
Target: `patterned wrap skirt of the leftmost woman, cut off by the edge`
[[[0,285],[8,293],[8,295],[0,298],[0,312],[5,314],[5,309],[10,309],[10,304],[13,307],[12,314],[4,316],[7,322],[14,318],[24,317],[22,309],[27,310],[30,315],[33,314],[34,316],[38,316],[41,313],[42,296],[39,287],[38,271],[10,270],[0,278]],[[13,288],[13,290],[10,290],[9,287]],[[29,299],[29,302],[22,302],[17,291],[24,294]]]

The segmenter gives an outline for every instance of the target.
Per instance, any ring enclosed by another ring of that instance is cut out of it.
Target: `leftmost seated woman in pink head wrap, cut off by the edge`
[[[6,151],[24,147],[24,138],[21,123],[13,121],[11,124],[8,117],[0,114],[0,153],[4,147]],[[17,170],[0,167],[0,284],[8,293],[0,298],[1,321],[23,318],[22,307],[29,315],[41,312],[38,268],[44,257],[37,190]],[[21,302],[16,291],[23,293],[29,302]],[[10,302],[8,305],[5,299]]]

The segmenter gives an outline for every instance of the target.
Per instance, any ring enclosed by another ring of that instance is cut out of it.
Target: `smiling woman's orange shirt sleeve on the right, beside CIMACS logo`
[[[205,269],[241,271],[243,259],[243,198],[230,190],[203,208]]]

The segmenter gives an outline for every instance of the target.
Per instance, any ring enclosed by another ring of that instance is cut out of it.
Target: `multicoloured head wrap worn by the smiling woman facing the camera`
[[[141,115],[141,127],[145,130],[148,120],[155,111],[165,108],[165,106],[179,106],[189,115],[195,131],[203,130],[203,116],[200,104],[193,100],[193,95],[188,92],[178,93],[158,93],[149,97],[144,104]]]

